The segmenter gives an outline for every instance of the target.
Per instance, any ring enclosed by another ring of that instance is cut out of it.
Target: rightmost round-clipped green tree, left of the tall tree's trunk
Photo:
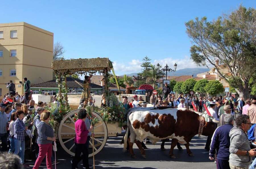
[[[223,85],[218,80],[212,80],[205,85],[206,93],[215,96],[224,92]]]

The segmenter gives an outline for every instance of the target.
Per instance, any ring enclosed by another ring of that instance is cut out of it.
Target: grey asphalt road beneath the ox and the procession
[[[201,138],[195,136],[190,143],[190,149],[195,155],[194,157],[189,157],[186,153],[185,146],[181,146],[183,151],[179,151],[177,147],[174,149],[174,154],[177,159],[171,159],[168,156],[171,142],[166,142],[165,148],[166,151],[160,150],[161,142],[157,142],[155,145],[146,144],[149,148],[146,150],[146,157],[144,159],[139,152],[139,149],[136,145],[133,145],[134,152],[137,156],[137,159],[132,159],[128,152],[123,153],[123,146],[119,144],[122,136],[109,138],[106,146],[100,153],[95,156],[95,168],[117,168],[117,169],[135,169],[135,168],[144,168],[144,169],[208,169],[216,168],[216,164],[208,159],[208,152],[205,151],[204,146],[207,137],[202,136]],[[67,154],[64,150],[59,149],[57,151],[57,160],[60,161],[57,164],[57,168],[66,169],[71,168],[70,160],[72,157]],[[92,164],[92,159],[89,159],[90,164]],[[32,168],[34,161],[28,162]],[[42,167],[46,168],[46,164],[42,164]],[[82,165],[79,165],[79,168],[82,168]]]

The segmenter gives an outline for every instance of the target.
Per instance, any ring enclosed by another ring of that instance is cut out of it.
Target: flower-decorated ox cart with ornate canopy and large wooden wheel
[[[121,133],[121,126],[125,119],[125,112],[121,103],[108,90],[110,85],[108,82],[109,72],[110,70],[113,71],[112,62],[108,58],[59,60],[53,61],[52,68],[59,86],[59,105],[55,106],[55,109],[52,110],[51,124],[55,128],[55,132],[57,132],[61,147],[73,156],[75,155],[75,144],[73,141],[75,138],[75,121],[80,109],[70,110],[67,98],[66,77],[74,73],[85,76],[83,83],[84,93],[82,93],[81,99],[88,100],[90,103],[90,85],[86,84],[90,84],[90,78],[87,81],[86,78],[91,77],[95,73],[103,74],[105,82],[103,86],[104,106],[101,108],[84,106],[84,108],[90,108],[91,110],[91,122],[96,121],[93,127],[93,138],[91,136],[89,142],[89,157],[96,155],[103,149],[109,136],[117,136],[117,133]],[[86,88],[86,85],[89,88]]]

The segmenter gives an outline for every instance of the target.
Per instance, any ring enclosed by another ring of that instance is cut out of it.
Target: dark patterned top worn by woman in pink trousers
[[[51,125],[46,124],[44,121],[40,121],[37,128],[38,128],[37,144],[52,144],[51,140],[47,140],[47,137],[54,137],[54,132]]]

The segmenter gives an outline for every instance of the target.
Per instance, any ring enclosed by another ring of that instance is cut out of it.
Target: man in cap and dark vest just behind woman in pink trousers
[[[32,134],[33,134],[32,142],[33,142],[33,145],[35,146],[36,155],[38,155],[39,146],[37,144],[37,138],[38,138],[37,126],[40,123],[40,117],[41,117],[41,114],[44,111],[44,108],[38,107],[38,108],[36,108],[36,111],[37,111],[37,115],[33,119],[34,123],[33,123],[33,127],[32,127]]]

